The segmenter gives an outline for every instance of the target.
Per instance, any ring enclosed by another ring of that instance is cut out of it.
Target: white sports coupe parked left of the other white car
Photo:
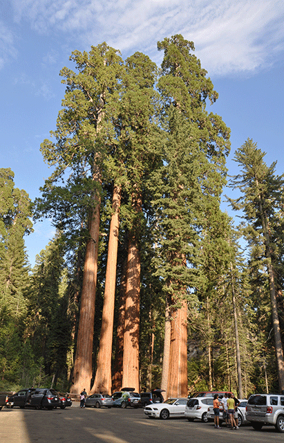
[[[149,418],[161,418],[167,420],[169,417],[184,417],[187,398],[167,399],[164,403],[153,403],[144,408],[144,414]]]

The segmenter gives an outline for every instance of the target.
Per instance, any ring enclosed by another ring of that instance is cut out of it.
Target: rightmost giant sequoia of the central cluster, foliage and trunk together
[[[154,205],[171,307],[167,395],[187,395],[187,300],[197,285],[203,214],[218,207],[225,183],[229,129],[220,116],[206,111],[206,101],[215,102],[218,94],[191,53],[193,42],[175,35],[158,42],[158,49],[164,51],[158,89],[164,101],[167,142]]]

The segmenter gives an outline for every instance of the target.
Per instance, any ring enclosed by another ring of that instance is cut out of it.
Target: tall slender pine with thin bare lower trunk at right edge
[[[267,269],[278,364],[278,383],[280,390],[283,390],[284,357],[275,284],[277,253],[274,251],[277,251],[278,244],[277,240],[276,243],[273,240],[275,239],[274,233],[280,227],[278,213],[283,208],[284,176],[277,176],[275,174],[276,163],[274,162],[268,167],[263,161],[264,156],[265,152],[261,152],[252,139],[247,139],[236,151],[234,160],[242,168],[242,173],[231,179],[231,187],[238,188],[241,196],[235,200],[230,199],[230,201],[234,210],[243,210],[243,219],[245,219],[243,233],[249,244],[263,246],[263,251],[259,251],[258,266],[264,265]]]

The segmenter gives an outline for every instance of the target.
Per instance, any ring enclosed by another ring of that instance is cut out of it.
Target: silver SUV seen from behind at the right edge
[[[284,394],[255,394],[247,401],[247,420],[256,431],[263,425],[275,426],[284,432]]]

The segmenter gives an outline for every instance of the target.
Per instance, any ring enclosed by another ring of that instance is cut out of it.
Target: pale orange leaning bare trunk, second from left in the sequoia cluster
[[[97,371],[91,393],[111,394],[111,350],[113,343],[113,315],[115,308],[115,282],[117,264],[117,244],[119,231],[121,189],[113,188],[113,215],[108,239],[108,260],[106,264],[106,283],[104,289],[104,307],[102,311],[102,329],[100,350],[97,356]]]

